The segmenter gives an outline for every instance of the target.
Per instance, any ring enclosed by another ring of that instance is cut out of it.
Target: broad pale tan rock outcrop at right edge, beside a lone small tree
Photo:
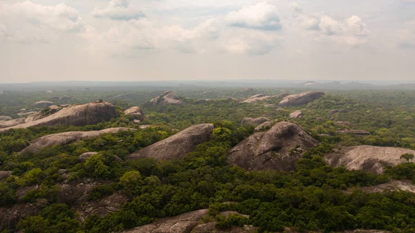
[[[412,153],[411,149],[396,147],[373,147],[368,145],[344,147],[325,156],[326,162],[334,167],[344,166],[349,170],[364,170],[374,174],[382,174],[385,166],[396,166],[406,162],[400,159],[404,153]],[[414,162],[415,160],[412,160]]]

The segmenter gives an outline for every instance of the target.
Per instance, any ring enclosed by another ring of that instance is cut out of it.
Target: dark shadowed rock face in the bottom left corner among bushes
[[[0,231],[9,230],[13,232],[17,223],[23,218],[38,214],[39,207],[33,204],[18,204],[12,207],[0,207]]]

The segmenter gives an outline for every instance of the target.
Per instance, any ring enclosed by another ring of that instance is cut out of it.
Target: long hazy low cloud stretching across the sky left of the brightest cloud
[[[203,53],[210,41],[219,36],[216,19],[203,21],[194,28],[179,25],[157,27],[148,19],[122,21],[107,32],[91,32],[89,50],[93,54],[131,55],[134,50],[177,50],[181,53]]]

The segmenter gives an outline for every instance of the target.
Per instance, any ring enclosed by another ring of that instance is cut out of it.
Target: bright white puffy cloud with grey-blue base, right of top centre
[[[268,3],[243,6],[226,16],[228,25],[259,30],[279,30],[282,28],[277,8]]]

